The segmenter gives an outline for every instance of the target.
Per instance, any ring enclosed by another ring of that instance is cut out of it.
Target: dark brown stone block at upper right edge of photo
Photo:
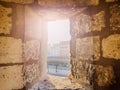
[[[110,7],[110,30],[120,30],[120,5]]]

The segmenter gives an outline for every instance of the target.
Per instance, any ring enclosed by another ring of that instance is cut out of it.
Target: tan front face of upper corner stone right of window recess
[[[92,16],[92,31],[101,31],[105,27],[105,12],[101,11]]]

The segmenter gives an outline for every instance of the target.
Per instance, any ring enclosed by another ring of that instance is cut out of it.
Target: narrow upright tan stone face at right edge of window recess
[[[93,58],[94,60],[100,59],[100,37],[95,36],[93,37]]]

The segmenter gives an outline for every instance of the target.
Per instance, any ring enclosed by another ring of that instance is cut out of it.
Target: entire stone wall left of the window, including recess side
[[[33,1],[0,1],[0,90],[28,89],[46,77],[47,34]]]

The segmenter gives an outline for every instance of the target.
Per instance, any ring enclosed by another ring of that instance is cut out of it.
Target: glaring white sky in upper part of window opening
[[[60,41],[70,40],[70,22],[69,19],[49,21],[47,23],[48,43],[55,44]]]

